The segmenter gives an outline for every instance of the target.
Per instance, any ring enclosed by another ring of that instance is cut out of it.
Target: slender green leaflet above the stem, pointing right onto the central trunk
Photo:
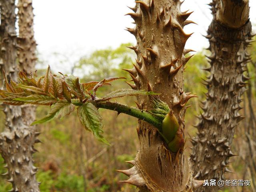
[[[100,101],[110,100],[112,98],[124,97],[124,96],[134,96],[134,95],[157,95],[154,92],[147,92],[145,90],[133,90],[133,89],[119,89],[115,90],[109,94],[106,94]]]

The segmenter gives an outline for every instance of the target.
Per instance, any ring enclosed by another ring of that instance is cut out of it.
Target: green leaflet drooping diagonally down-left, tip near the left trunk
[[[31,125],[36,125],[53,120],[54,118],[63,118],[75,110],[75,106],[69,102],[58,101],[51,107],[50,112],[42,119],[33,122]]]

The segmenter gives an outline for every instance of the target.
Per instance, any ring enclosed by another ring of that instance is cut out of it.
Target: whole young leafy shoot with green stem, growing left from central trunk
[[[157,95],[145,90],[119,89],[104,95],[96,96],[98,88],[111,85],[114,80],[123,79],[118,77],[106,78],[100,82],[80,83],[75,76],[62,75],[58,77],[51,73],[50,67],[46,75],[38,80],[35,74],[28,77],[24,72],[19,73],[18,82],[8,81],[4,73],[6,90],[0,90],[0,102],[9,105],[46,105],[51,106],[50,112],[42,119],[36,120],[32,125],[49,122],[54,118],[63,118],[75,110],[81,124],[103,143],[109,144],[102,135],[103,123],[98,108],[114,110],[119,113],[134,116],[140,120],[152,124],[158,130],[162,128],[162,120],[170,112],[168,105],[154,99],[155,109],[146,112],[131,106],[110,102],[114,98],[138,95]]]

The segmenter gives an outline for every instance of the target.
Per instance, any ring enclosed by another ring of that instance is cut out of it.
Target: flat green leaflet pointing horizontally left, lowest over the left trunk
[[[13,100],[36,105],[52,105],[53,103],[57,102],[56,98],[39,94],[32,94],[26,97],[15,98]]]

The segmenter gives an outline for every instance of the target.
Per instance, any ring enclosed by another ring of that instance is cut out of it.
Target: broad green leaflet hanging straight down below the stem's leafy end
[[[92,103],[88,102],[79,106],[77,113],[84,128],[91,131],[100,142],[109,145],[108,141],[101,135],[103,134],[103,123],[97,108]]]

